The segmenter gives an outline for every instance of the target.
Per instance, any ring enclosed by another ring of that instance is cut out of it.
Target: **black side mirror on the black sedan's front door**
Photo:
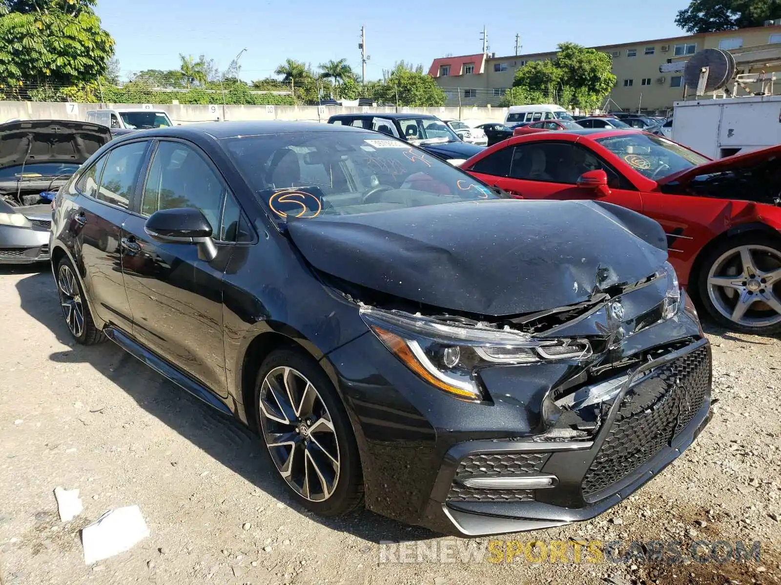
[[[144,224],[144,232],[158,242],[196,244],[198,257],[207,262],[217,256],[212,226],[201,210],[194,207],[155,211]]]

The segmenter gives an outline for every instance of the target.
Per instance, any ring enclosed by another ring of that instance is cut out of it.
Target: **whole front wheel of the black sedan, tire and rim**
[[[255,380],[262,440],[294,498],[321,516],[341,516],[363,501],[358,446],[329,378],[304,353],[270,353]]]

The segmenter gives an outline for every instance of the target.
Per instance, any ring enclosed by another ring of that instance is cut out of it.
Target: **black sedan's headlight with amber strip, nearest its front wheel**
[[[378,339],[420,378],[448,394],[481,400],[480,367],[549,360],[584,360],[585,339],[534,339],[510,328],[451,324],[405,313],[361,307],[361,317]]]

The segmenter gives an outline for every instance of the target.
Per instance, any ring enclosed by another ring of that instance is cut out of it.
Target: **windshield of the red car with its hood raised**
[[[708,162],[701,154],[654,134],[626,133],[597,138],[597,142],[648,179],[661,179]]]

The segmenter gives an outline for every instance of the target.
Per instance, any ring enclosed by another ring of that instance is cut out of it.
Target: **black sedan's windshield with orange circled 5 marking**
[[[433,155],[378,136],[312,132],[222,143],[278,222],[502,198]]]

